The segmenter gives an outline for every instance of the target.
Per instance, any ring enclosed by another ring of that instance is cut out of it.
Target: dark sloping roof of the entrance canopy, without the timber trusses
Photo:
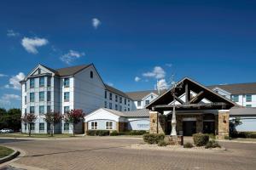
[[[236,105],[235,102],[231,101],[230,99],[224,98],[222,95],[213,92],[211,89],[206,88],[205,86],[201,85],[198,82],[193,81],[189,77],[184,77],[181,81],[177,82],[177,86],[182,85],[182,87],[176,90],[177,97],[181,96],[185,93],[185,86],[183,84],[189,84],[190,90],[195,92],[196,94],[201,93],[204,91],[204,98],[212,101],[213,103],[224,102],[229,107],[233,107]],[[165,94],[161,94],[158,98],[154,99],[150,104],[146,106],[147,109],[152,108],[155,105],[168,105],[173,101],[172,97],[172,90],[173,88],[166,91]]]

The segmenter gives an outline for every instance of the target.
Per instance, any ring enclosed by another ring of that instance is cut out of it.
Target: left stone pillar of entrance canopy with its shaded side
[[[150,128],[149,133],[165,133],[166,116],[157,111],[149,111]]]

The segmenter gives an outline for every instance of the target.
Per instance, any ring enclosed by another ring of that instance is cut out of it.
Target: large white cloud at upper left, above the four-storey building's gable
[[[48,40],[45,38],[29,38],[23,37],[21,40],[21,45],[26,49],[28,53],[38,54],[38,47],[44,46],[48,43]]]

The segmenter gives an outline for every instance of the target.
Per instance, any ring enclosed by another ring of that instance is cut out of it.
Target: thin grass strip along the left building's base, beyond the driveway
[[[76,134],[76,136],[81,136],[81,134]],[[0,133],[1,137],[11,137],[11,138],[26,138],[29,137],[28,133]],[[73,137],[73,134],[54,134],[53,137],[50,134],[31,134],[30,138],[69,138]]]

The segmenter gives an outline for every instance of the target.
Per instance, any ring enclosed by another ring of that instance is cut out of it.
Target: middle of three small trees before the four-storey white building
[[[50,124],[50,135],[53,136],[55,124],[61,122],[62,116],[59,112],[49,112],[44,114],[44,116],[45,122],[48,122]]]

